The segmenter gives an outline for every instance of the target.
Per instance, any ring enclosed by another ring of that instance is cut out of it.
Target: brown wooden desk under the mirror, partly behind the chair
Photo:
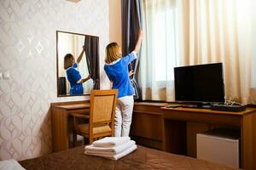
[[[89,113],[89,102],[51,105],[53,151],[67,150],[72,146],[69,136],[72,135],[73,123],[69,123],[69,116]]]

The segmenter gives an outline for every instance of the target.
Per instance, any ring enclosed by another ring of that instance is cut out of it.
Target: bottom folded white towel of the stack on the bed
[[[128,142],[125,142],[125,144],[119,144],[118,146],[114,146],[114,147],[102,148],[102,147],[95,147],[93,144],[90,144],[88,146],[85,146],[84,149],[86,150],[86,153],[105,154],[108,156],[114,156],[116,154],[123,152],[124,150],[127,150],[134,144],[135,144],[135,141],[129,140]]]

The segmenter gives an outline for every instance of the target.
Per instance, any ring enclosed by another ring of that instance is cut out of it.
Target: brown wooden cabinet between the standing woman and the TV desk
[[[131,123],[131,138],[137,144],[162,150],[162,111],[166,103],[136,102]]]

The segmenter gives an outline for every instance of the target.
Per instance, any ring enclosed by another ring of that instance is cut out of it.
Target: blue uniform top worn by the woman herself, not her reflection
[[[118,98],[133,95],[134,88],[131,86],[128,65],[132,60],[137,58],[137,54],[133,51],[112,64],[105,64],[104,70],[108,79],[113,82],[113,89],[119,89]]]

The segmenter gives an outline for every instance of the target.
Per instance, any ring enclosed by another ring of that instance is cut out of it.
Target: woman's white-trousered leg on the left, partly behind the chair
[[[121,113],[121,105],[118,99],[118,104],[116,105],[115,115],[114,115],[114,136],[120,137],[121,130],[122,130],[122,113]]]

